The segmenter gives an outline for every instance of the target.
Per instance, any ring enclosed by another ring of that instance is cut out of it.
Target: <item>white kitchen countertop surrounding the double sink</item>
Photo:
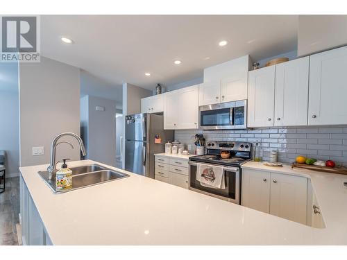
[[[347,244],[347,176],[300,173],[319,199],[326,228],[318,229],[110,166],[130,177],[55,194],[37,174],[47,166],[20,171],[54,245]]]

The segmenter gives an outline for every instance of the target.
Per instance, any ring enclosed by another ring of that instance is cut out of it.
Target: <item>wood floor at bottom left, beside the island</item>
[[[18,245],[19,177],[6,179],[6,191],[0,194],[0,245]]]

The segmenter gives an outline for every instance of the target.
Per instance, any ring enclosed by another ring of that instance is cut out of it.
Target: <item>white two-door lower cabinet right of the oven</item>
[[[307,178],[243,169],[242,205],[306,224]]]

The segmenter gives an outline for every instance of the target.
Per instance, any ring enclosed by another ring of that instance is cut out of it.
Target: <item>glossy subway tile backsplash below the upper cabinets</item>
[[[206,141],[260,142],[263,158],[269,151],[278,150],[280,162],[294,162],[298,155],[316,159],[333,159],[347,166],[347,127],[259,128],[249,130],[176,130],[175,139],[191,144],[194,135],[203,134]],[[193,151],[191,151],[193,152]]]

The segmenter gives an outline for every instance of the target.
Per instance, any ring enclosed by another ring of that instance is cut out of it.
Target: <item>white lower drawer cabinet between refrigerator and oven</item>
[[[188,161],[155,155],[155,180],[188,189]]]

